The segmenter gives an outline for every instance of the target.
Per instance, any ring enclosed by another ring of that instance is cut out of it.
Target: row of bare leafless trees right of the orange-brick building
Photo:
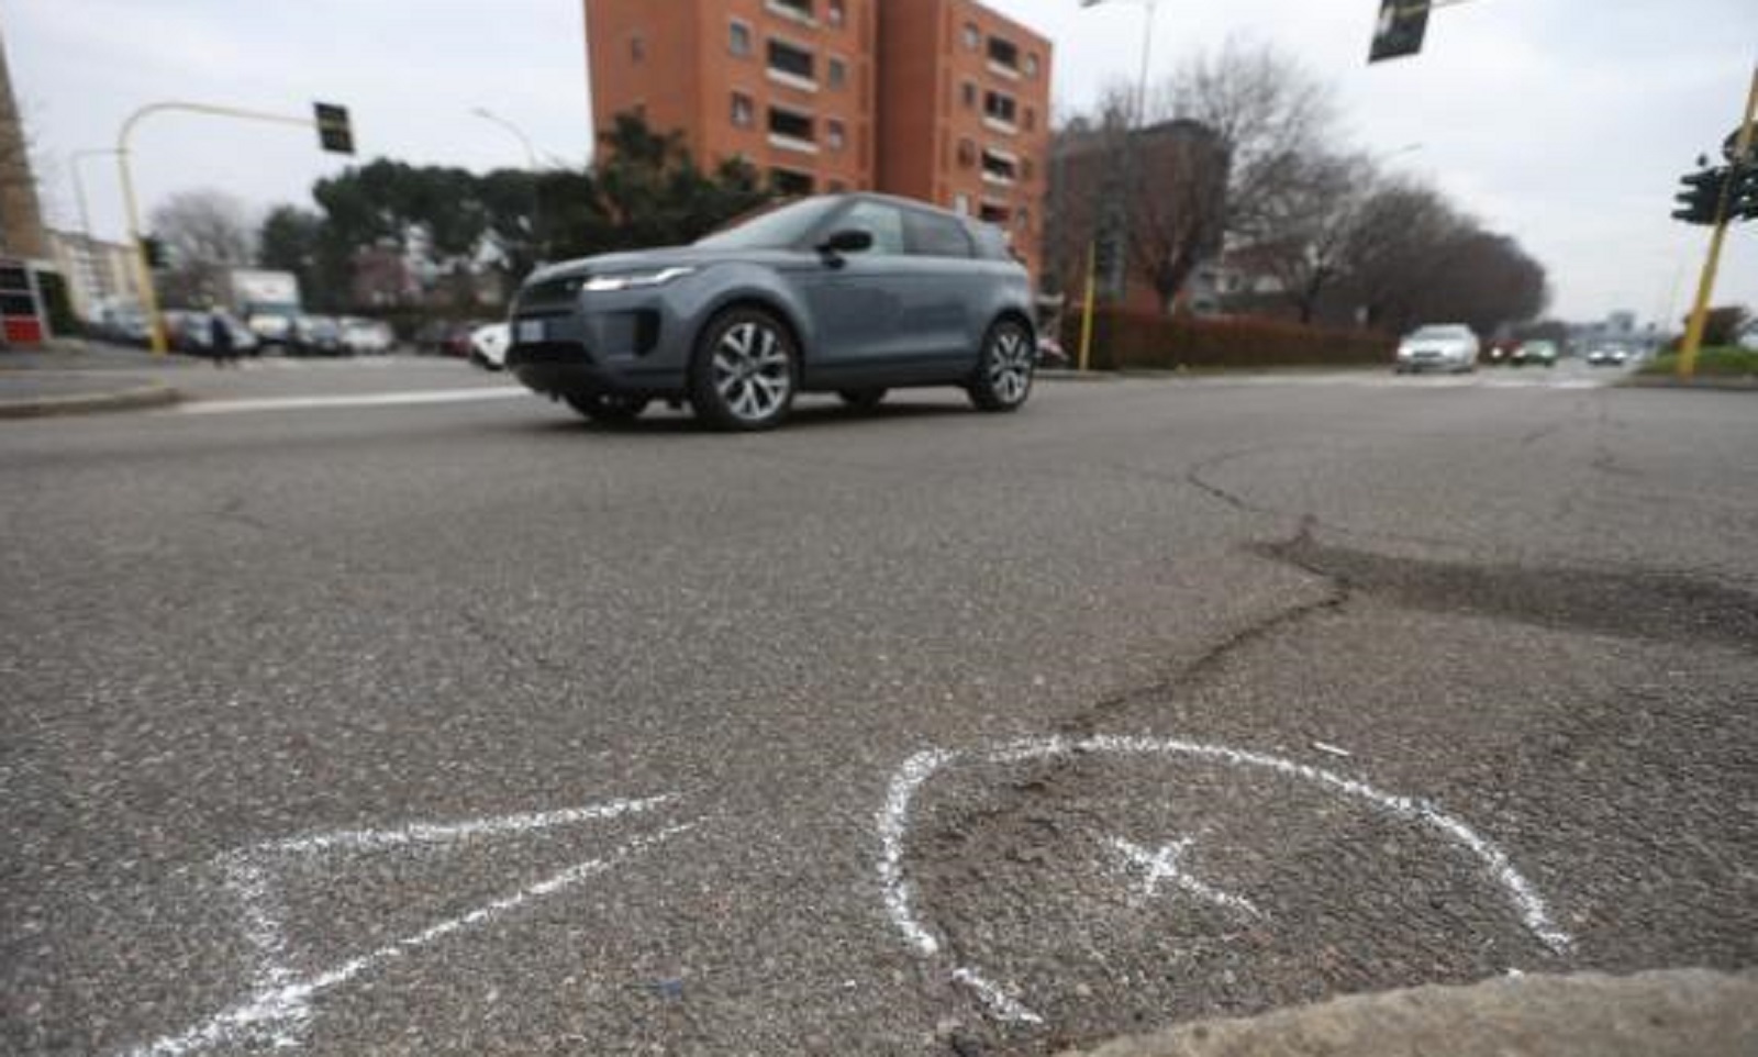
[[[1062,146],[1097,137],[1120,157],[1111,171],[1123,172],[1134,118],[1132,95],[1118,86],[1058,137]],[[1549,301],[1545,269],[1515,239],[1343,142],[1327,86],[1287,55],[1238,42],[1201,55],[1151,93],[1143,118],[1181,132],[1174,149],[1136,149],[1123,188],[1130,271],[1167,311],[1215,259],[1245,280],[1227,311],[1301,324],[1394,334],[1463,322],[1487,336]],[[1053,208],[1064,218],[1090,209]],[[1072,229],[1086,225],[1062,225]],[[1085,255],[1085,244],[1053,237],[1051,281],[1078,288]]]

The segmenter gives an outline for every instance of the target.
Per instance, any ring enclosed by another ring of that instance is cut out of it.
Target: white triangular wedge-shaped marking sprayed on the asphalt
[[[464,823],[418,823],[390,830],[336,830],[287,841],[267,841],[222,857],[227,888],[237,899],[246,939],[255,951],[253,992],[243,1002],[223,1010],[207,1020],[132,1050],[127,1057],[183,1057],[234,1043],[265,1045],[276,1050],[297,1048],[311,1022],[311,999],[338,988],[378,966],[410,955],[455,932],[476,929],[538,899],[566,892],[587,878],[603,874],[622,862],[657,846],[698,823],[677,823],[663,830],[626,841],[608,855],[570,865],[548,878],[520,888],[501,899],[485,902],[468,913],[445,918],[413,936],[394,939],[360,957],[299,978],[288,966],[287,937],[281,927],[280,906],[269,886],[269,867],[274,860],[316,858],[332,851],[385,851],[410,846],[445,846],[480,839],[531,834],[538,830],[575,825],[591,820],[638,814],[675,800],[675,795],[642,800],[610,800],[589,807],[508,814]]]

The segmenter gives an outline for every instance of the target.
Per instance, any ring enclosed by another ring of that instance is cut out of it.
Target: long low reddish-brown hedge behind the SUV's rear
[[[1062,348],[1079,355],[1081,313],[1062,325]],[[1398,339],[1278,320],[1166,317],[1101,308],[1093,313],[1092,368],[1343,368],[1391,364]]]

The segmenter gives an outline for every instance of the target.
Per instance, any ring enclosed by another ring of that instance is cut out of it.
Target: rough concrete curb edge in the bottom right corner
[[[1085,1057],[1746,1057],[1754,1041],[1758,978],[1681,969],[1355,995],[1187,1024]]]

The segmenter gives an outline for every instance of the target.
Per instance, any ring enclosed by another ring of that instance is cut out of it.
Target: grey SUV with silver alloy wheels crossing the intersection
[[[956,385],[986,412],[1032,392],[1025,269],[1004,236],[884,195],[802,199],[694,246],[533,274],[506,366],[587,419],[689,401],[721,429],[768,429],[796,392],[872,408],[888,389]]]

